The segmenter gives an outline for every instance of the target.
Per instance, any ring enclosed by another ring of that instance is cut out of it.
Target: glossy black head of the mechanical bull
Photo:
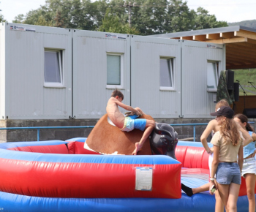
[[[178,133],[172,126],[157,123],[150,137],[152,154],[162,154],[176,159],[175,148],[178,143]]]

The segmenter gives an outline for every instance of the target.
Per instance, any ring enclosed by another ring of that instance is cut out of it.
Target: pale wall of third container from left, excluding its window
[[[132,37],[132,107],[154,118],[178,118],[181,111],[181,44],[177,39]],[[160,57],[174,58],[173,91],[160,91]]]

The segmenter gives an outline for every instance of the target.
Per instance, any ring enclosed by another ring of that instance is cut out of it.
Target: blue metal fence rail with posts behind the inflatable
[[[208,124],[208,123],[207,123]],[[170,126],[193,126],[193,137],[195,141],[195,127],[207,125],[206,123],[198,124],[170,124]],[[249,122],[249,124],[255,124],[255,122]],[[26,126],[26,127],[5,127],[0,128],[0,130],[10,130],[10,129],[37,129],[37,141],[40,140],[40,129],[75,129],[75,128],[94,128],[94,126]]]

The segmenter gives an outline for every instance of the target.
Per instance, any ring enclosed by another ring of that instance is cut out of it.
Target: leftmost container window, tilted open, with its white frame
[[[63,86],[62,81],[62,50],[45,50],[45,86]]]

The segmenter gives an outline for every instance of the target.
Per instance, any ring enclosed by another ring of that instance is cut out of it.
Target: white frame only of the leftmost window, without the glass
[[[64,58],[64,50],[59,50],[59,49],[49,49],[45,48],[44,51],[44,56],[45,52],[55,52],[58,53],[58,59],[59,59],[59,76],[61,82],[45,82],[45,58],[44,58],[44,87],[50,87],[50,88],[64,88],[64,83],[63,83],[63,58]]]

